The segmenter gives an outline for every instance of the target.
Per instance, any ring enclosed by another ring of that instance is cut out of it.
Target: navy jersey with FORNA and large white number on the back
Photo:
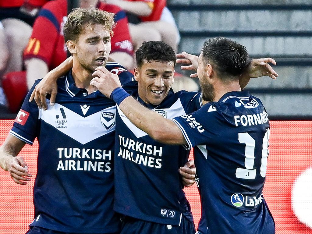
[[[270,126],[261,101],[229,92],[173,121],[194,147],[208,233],[275,233],[262,194]]]

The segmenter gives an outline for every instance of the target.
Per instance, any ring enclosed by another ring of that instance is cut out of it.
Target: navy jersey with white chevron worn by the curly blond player
[[[133,80],[116,63],[106,68],[122,83]],[[57,84],[56,103],[48,103],[45,111],[28,102],[34,85],[10,131],[27,144],[36,137],[39,143],[30,226],[68,233],[119,232],[120,219],[113,211],[115,103],[99,91],[88,94],[77,88],[71,72]]]

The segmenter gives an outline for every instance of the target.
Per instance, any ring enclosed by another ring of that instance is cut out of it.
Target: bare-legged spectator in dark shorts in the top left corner
[[[22,70],[22,53],[36,13],[48,0],[0,0],[0,77]]]

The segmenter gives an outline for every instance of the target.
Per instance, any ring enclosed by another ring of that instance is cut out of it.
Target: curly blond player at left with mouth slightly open
[[[68,16],[64,38],[73,56],[72,70],[58,80],[58,96],[48,110],[28,102],[0,148],[0,166],[18,184],[31,175],[22,156],[25,144],[39,142],[34,184],[35,219],[27,234],[119,233],[113,212],[115,103],[90,85],[97,66],[117,70],[121,83],[133,75],[106,63],[114,14],[77,9]]]

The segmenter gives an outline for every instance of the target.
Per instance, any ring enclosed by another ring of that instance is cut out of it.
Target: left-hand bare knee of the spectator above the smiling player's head
[[[129,24],[129,31],[134,51],[140,47],[144,41],[161,41],[162,38],[157,29],[142,23]]]

